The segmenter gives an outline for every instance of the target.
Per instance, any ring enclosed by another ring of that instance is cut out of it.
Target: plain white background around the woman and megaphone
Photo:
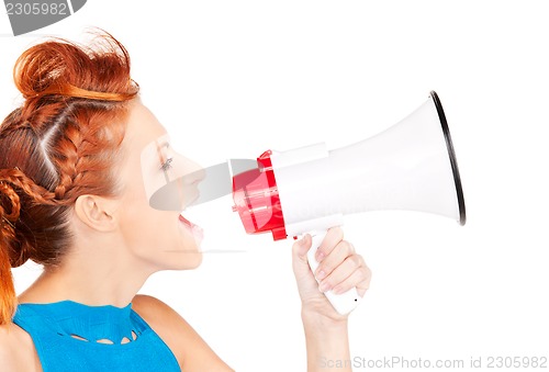
[[[144,102],[203,166],[318,142],[338,148],[393,125],[436,90],[468,223],[413,212],[346,219],[346,237],[373,271],[350,319],[352,357],[466,367],[547,358],[546,10],[528,0],[89,0],[16,38],[0,14],[0,112],[18,102],[19,54],[44,34],[83,40],[86,26],[128,48]],[[208,207],[198,221],[205,245],[245,252],[205,255],[200,269],[155,274],[143,292],[173,306],[238,371],[304,371],[291,241],[245,235],[229,199]],[[20,292],[40,269],[14,272]]]

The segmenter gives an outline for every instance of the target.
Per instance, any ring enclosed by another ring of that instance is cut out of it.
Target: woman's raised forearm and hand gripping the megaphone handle
[[[293,271],[302,301],[307,371],[349,372],[348,316],[336,313],[321,290],[343,293],[356,286],[362,296],[370,285],[371,272],[352,245],[343,239],[343,230],[338,227],[328,230],[318,248],[316,259],[320,264],[314,277],[306,257],[310,248],[309,235],[293,246]]]

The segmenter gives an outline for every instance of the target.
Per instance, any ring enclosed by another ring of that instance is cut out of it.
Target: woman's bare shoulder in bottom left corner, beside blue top
[[[0,325],[0,361],[2,371],[41,371],[31,336],[18,325]]]

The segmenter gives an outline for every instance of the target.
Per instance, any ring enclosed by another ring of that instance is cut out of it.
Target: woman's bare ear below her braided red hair
[[[75,203],[78,218],[87,226],[99,232],[112,232],[116,228],[116,201],[97,196],[80,195]]]

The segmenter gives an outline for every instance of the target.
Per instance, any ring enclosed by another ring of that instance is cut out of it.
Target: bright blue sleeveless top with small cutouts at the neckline
[[[44,372],[181,371],[132,304],[20,304],[13,323],[31,335]]]

